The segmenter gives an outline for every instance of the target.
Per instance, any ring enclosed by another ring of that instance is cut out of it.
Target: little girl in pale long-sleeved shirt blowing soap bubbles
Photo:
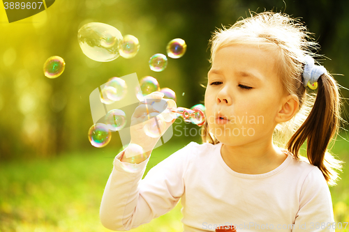
[[[126,148],[116,156],[101,203],[102,224],[130,230],[181,199],[184,231],[231,225],[237,231],[334,231],[328,185],[338,179],[334,169],[341,170],[341,161],[327,146],[341,119],[339,90],[314,64],[310,49],[316,44],[306,40],[308,34],[297,20],[272,12],[216,31],[203,144],[191,142],[141,180],[158,138],[143,130],[156,110],[140,105],[131,143],[147,152]],[[317,88],[313,98],[310,88]],[[147,98],[161,100],[163,94]],[[304,141],[308,160],[299,155]]]

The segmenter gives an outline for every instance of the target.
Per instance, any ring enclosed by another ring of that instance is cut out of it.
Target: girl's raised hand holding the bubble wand
[[[131,144],[138,144],[143,148],[146,156],[145,159],[150,155],[151,150],[154,149],[158,139],[160,139],[165,131],[168,130],[168,127],[170,127],[170,125],[172,125],[172,123],[175,121],[175,119],[173,119],[170,122],[166,122],[163,120],[163,116],[160,115],[161,112],[157,111],[153,107],[153,102],[160,102],[163,100],[163,96],[164,94],[161,92],[153,92],[146,95],[144,97],[144,101],[140,102],[140,105],[138,105],[131,117]],[[163,124],[163,127],[161,127],[161,124]],[[161,131],[158,130],[158,125],[160,125],[160,128],[162,128]],[[144,127],[150,127],[150,129],[158,132],[158,137],[149,137],[145,133]],[[127,150],[127,148],[125,153],[128,154],[127,156],[135,155],[131,154],[131,150]],[[126,154],[124,154],[124,157]],[[140,156],[144,157],[144,154]]]

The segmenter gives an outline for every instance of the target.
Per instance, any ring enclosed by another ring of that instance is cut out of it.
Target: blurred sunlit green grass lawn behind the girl
[[[154,150],[147,171],[185,144]],[[349,162],[349,143],[339,138],[333,153]],[[0,164],[0,232],[110,231],[99,221],[99,206],[117,152],[65,154],[50,160]],[[346,165],[345,165],[346,167]],[[146,172],[147,172],[146,171]],[[336,222],[349,222],[349,171],[330,187]],[[182,231],[179,203],[168,214],[131,231]],[[349,231],[341,229],[336,231]]]

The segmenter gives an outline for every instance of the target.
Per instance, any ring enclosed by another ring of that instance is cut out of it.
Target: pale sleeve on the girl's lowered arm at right
[[[329,187],[320,169],[313,167],[302,185],[299,210],[292,231],[334,232],[333,223],[334,215]]]

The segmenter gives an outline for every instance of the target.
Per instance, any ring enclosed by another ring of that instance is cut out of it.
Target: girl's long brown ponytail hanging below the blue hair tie
[[[318,93],[313,109],[299,129],[292,135],[286,147],[299,159],[299,148],[307,141],[310,164],[318,167],[329,185],[336,185],[343,162],[327,151],[332,139],[336,139],[340,123],[339,89],[336,80],[325,73],[318,79]]]

